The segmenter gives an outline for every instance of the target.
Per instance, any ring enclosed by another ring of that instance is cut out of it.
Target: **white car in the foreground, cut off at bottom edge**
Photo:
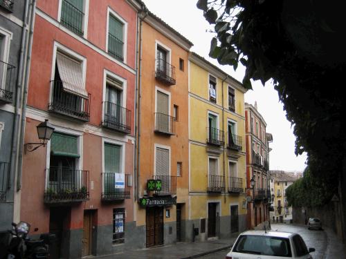
[[[313,251],[297,233],[252,230],[239,234],[226,259],[311,259]]]

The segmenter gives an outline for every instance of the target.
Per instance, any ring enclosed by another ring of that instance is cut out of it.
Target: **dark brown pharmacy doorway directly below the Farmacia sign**
[[[147,247],[163,244],[163,208],[147,208],[146,228]]]

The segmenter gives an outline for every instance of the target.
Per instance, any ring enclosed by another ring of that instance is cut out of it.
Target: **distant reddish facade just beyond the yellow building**
[[[246,179],[248,203],[248,228],[262,228],[268,223],[269,202],[269,142],[273,141],[266,133],[266,122],[257,111],[257,103],[245,104],[246,117]],[[251,181],[253,180],[253,181]],[[253,182],[253,186],[251,186]]]

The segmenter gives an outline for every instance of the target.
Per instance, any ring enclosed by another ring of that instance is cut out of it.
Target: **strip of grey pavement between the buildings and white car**
[[[162,247],[150,249],[138,249],[133,251],[124,251],[109,256],[96,256],[96,258],[111,259],[192,259],[199,256],[205,256],[209,253],[215,253],[224,249],[230,249],[236,238],[219,239],[206,242],[177,242],[176,244],[167,244]],[[225,250],[225,255],[228,251]]]

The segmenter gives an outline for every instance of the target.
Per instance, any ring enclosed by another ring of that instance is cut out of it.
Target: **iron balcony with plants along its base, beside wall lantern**
[[[89,200],[89,171],[51,167],[46,169],[45,203]]]

